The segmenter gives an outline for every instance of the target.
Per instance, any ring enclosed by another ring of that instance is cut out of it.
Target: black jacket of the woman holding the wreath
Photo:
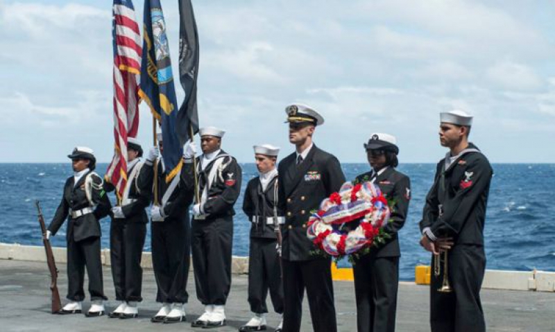
[[[355,183],[369,181],[373,172],[361,174],[357,176]],[[409,202],[411,200],[411,181],[407,175],[388,167],[386,170],[377,175],[374,184],[379,187],[382,194],[388,201],[393,201],[389,222],[384,225],[384,231],[391,236],[386,243],[372,247],[370,254],[375,257],[398,257],[401,256],[399,247],[398,231],[403,227],[407,220],[409,212]]]

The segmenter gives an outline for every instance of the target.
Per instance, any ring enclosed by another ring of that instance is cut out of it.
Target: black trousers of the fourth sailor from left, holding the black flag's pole
[[[193,219],[191,224],[196,297],[204,305],[223,306],[231,287],[233,218]]]

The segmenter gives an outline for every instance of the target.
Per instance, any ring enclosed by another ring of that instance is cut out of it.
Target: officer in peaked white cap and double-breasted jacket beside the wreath
[[[280,208],[285,213],[282,228],[284,288],[283,331],[300,330],[302,297],[307,289],[314,331],[336,331],[331,259],[317,251],[307,238],[311,211],[324,198],[339,191],[345,175],[334,155],[314,145],[312,136],[323,117],[313,108],[293,104],[286,107],[289,142],[296,151],[278,166]]]

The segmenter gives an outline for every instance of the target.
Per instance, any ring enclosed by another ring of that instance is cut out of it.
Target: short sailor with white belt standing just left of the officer
[[[274,311],[283,313],[283,288],[277,232],[284,222],[282,211],[278,211],[278,169],[275,162],[280,148],[264,144],[254,146],[255,162],[259,176],[247,184],[243,200],[243,211],[250,226],[248,254],[248,303],[254,313],[239,331],[261,331],[266,329],[266,295],[270,290]],[[282,322],[275,331],[282,331]]]

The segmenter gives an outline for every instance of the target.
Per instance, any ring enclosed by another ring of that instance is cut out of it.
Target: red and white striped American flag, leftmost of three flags
[[[112,42],[114,49],[114,158],[106,180],[116,187],[119,198],[127,183],[127,138],[139,129],[139,87],[142,39],[131,0],[114,0]]]

